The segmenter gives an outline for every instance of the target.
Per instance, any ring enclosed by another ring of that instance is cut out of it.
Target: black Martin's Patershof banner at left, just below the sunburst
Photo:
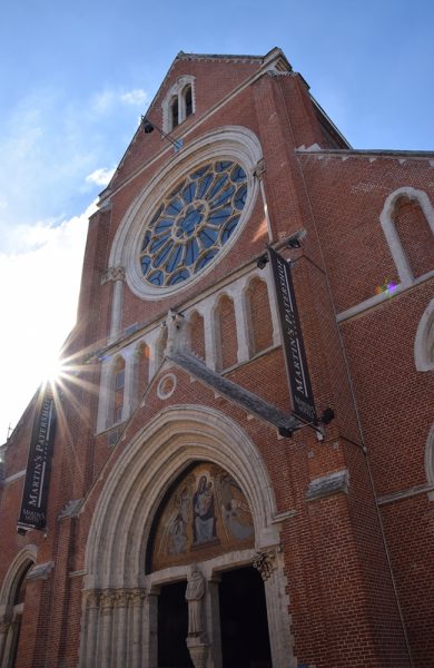
[[[47,391],[40,399],[36,411],[21,512],[18,520],[19,529],[46,528],[55,431],[55,400],[51,392]]]

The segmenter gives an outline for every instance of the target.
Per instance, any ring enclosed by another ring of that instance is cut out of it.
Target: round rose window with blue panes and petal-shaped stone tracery
[[[141,272],[152,287],[197,275],[235,232],[247,198],[247,176],[230,160],[207,163],[161,202],[147,225]]]

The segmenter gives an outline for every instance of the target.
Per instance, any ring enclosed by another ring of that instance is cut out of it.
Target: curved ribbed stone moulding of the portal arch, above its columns
[[[247,434],[209,407],[172,406],[136,435],[105,484],[86,550],[87,588],[137,584],[154,517],[168,485],[199,461],[220,465],[238,481],[251,510],[256,543],[276,541],[268,473]]]

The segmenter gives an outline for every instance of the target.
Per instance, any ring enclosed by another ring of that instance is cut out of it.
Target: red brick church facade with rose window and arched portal
[[[37,397],[0,448],[1,668],[433,666],[433,174],[352,149],[279,49],[176,57],[89,220],[42,530]]]

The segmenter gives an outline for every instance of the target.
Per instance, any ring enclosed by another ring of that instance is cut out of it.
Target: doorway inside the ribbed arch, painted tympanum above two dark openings
[[[264,583],[251,566],[238,568],[254,546],[246,497],[221,466],[194,463],[170,485],[150,533],[147,570],[156,582],[184,566],[188,581],[158,590],[159,668],[190,668],[198,654],[213,666],[270,668]],[[218,582],[214,600],[207,573]]]

